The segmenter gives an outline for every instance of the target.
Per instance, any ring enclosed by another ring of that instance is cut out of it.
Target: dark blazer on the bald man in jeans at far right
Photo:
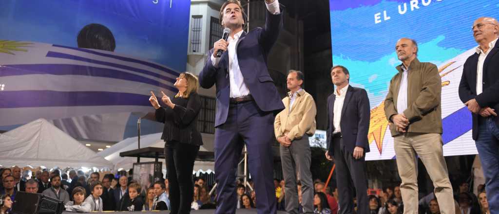
[[[463,67],[463,75],[459,84],[459,98],[463,103],[469,100],[477,100],[480,107],[491,107],[499,112],[499,41],[491,49],[487,58],[485,58],[483,68],[483,92],[477,95],[477,66],[478,53],[468,57]],[[473,139],[478,138],[478,118],[480,115],[473,115]],[[499,116],[495,118],[496,125],[499,126]]]

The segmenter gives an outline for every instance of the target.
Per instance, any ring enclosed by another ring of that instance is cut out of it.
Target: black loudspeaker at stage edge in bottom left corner
[[[64,202],[37,193],[17,192],[12,214],[61,214]]]

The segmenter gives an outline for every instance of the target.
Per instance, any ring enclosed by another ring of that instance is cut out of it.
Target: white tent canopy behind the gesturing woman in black
[[[140,148],[146,147],[158,147],[164,148],[165,142],[161,139],[161,133],[147,134],[140,136]],[[110,148],[104,149],[97,154],[105,158],[106,160],[114,164],[114,169],[124,169],[128,170],[133,167],[133,163],[137,162],[135,157],[120,157],[120,152],[130,151],[138,149],[138,137],[126,138]],[[203,146],[200,147],[200,151],[207,151]],[[160,159],[163,163],[163,171],[166,172],[165,160]],[[154,158],[140,158],[140,162],[154,162]],[[210,161],[195,161],[194,162],[195,172],[214,172],[214,162]]]

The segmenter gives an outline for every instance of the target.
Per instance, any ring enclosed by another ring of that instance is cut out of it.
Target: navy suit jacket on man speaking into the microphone
[[[257,27],[250,32],[243,32],[239,38],[236,50],[238,53],[239,67],[244,77],[244,82],[250,94],[262,111],[280,112],[284,105],[280,99],[274,83],[267,70],[267,56],[277,40],[279,29],[282,27],[281,13],[271,14],[267,10],[265,26]],[[215,114],[215,127],[222,125],[227,120],[229,112],[229,54],[222,54],[218,68],[213,66],[211,56],[213,49],[208,53],[203,71],[199,74],[199,83],[205,89],[216,84],[217,111]]]

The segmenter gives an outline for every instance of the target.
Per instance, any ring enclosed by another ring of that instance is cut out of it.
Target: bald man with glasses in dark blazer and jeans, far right
[[[473,23],[479,44],[468,57],[459,84],[459,98],[473,115],[473,139],[484,168],[491,213],[499,213],[499,24],[481,17]]]

